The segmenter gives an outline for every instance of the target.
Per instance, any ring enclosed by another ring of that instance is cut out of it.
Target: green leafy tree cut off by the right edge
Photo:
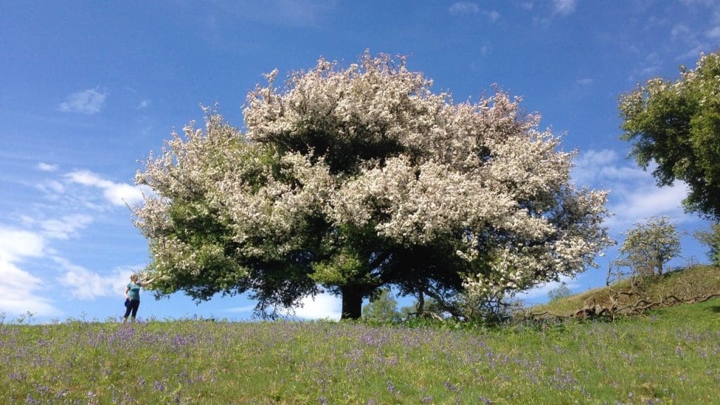
[[[660,185],[690,187],[685,209],[720,219],[720,55],[701,55],[678,81],[650,79],[620,99],[621,136]]]

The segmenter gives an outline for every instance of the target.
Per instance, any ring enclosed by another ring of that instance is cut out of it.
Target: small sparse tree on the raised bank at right
[[[613,264],[630,267],[633,275],[662,275],[665,263],[680,255],[683,233],[667,216],[649,218],[646,224],[636,223],[624,233],[625,241]]]

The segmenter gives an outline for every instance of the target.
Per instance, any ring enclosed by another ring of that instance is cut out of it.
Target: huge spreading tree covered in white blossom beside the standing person
[[[606,192],[570,182],[574,153],[503,92],[433,94],[403,58],[320,60],[248,94],[242,133],[208,110],[136,182],[159,294],[248,292],[260,313],[329,290],[343,318],[395,285],[438,298],[523,290],[611,243]]]

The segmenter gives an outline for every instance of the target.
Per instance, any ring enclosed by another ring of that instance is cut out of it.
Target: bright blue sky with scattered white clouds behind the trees
[[[408,55],[437,92],[475,99],[494,85],[539,112],[542,127],[577,149],[577,184],[611,190],[608,222],[620,233],[670,215],[688,233],[684,184],[658,188],[626,159],[618,95],[653,76],[676,79],[720,45],[720,1],[2,1],[0,0],[0,313],[36,321],[122,315],[129,275],[148,263],[125,202],[137,203],[138,161],[173,128],[218,103],[242,125],[246,94],[262,74],[310,68],[320,57],[353,63]],[[603,285],[598,269],[567,280]],[[683,239],[683,256],[706,262]],[[546,298],[555,285],[534,290]],[[140,316],[247,319],[252,301],[142,293]],[[337,298],[298,315],[336,318]]]

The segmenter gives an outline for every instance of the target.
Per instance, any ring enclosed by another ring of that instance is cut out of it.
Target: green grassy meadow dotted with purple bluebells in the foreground
[[[498,328],[2,322],[0,404],[720,404],[720,300]]]

